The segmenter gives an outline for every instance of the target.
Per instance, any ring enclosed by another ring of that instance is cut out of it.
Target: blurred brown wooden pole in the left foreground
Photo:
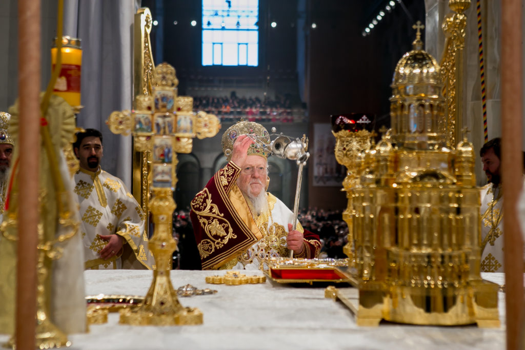
[[[35,348],[40,153],[40,1],[18,0],[18,248],[15,341]]]

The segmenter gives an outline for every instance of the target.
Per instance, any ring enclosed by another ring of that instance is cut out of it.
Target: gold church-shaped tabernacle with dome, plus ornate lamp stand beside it
[[[456,148],[449,144],[442,72],[422,49],[421,28],[395,69],[391,131],[374,145],[364,142],[366,131],[333,120],[335,154],[352,169],[344,183],[350,260],[342,271],[359,289],[359,325],[498,327],[499,286],[480,277],[474,147],[466,130]],[[350,304],[342,291],[326,294]]]

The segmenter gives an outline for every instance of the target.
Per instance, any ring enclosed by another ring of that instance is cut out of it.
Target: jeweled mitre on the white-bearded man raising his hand
[[[259,155],[268,158],[271,151],[270,134],[264,126],[256,122],[238,122],[228,128],[223,134],[223,152],[228,162],[232,159],[233,144],[238,136],[249,135],[255,141],[248,149],[248,155]]]

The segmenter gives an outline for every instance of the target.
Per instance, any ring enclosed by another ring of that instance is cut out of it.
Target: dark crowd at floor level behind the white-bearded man
[[[303,208],[299,211],[298,220],[304,229],[319,235],[322,245],[320,259],[346,258],[343,247],[348,241],[348,226],[343,221],[341,210]],[[189,210],[174,211],[173,238],[178,247],[173,253],[173,269],[200,270],[201,258],[193,236]]]

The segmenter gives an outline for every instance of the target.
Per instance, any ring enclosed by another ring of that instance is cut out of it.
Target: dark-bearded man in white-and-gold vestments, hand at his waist
[[[100,167],[102,134],[95,129],[78,132],[73,150],[80,165],[75,193],[85,268],[151,269],[154,259],[144,232],[144,213],[121,179]]]

